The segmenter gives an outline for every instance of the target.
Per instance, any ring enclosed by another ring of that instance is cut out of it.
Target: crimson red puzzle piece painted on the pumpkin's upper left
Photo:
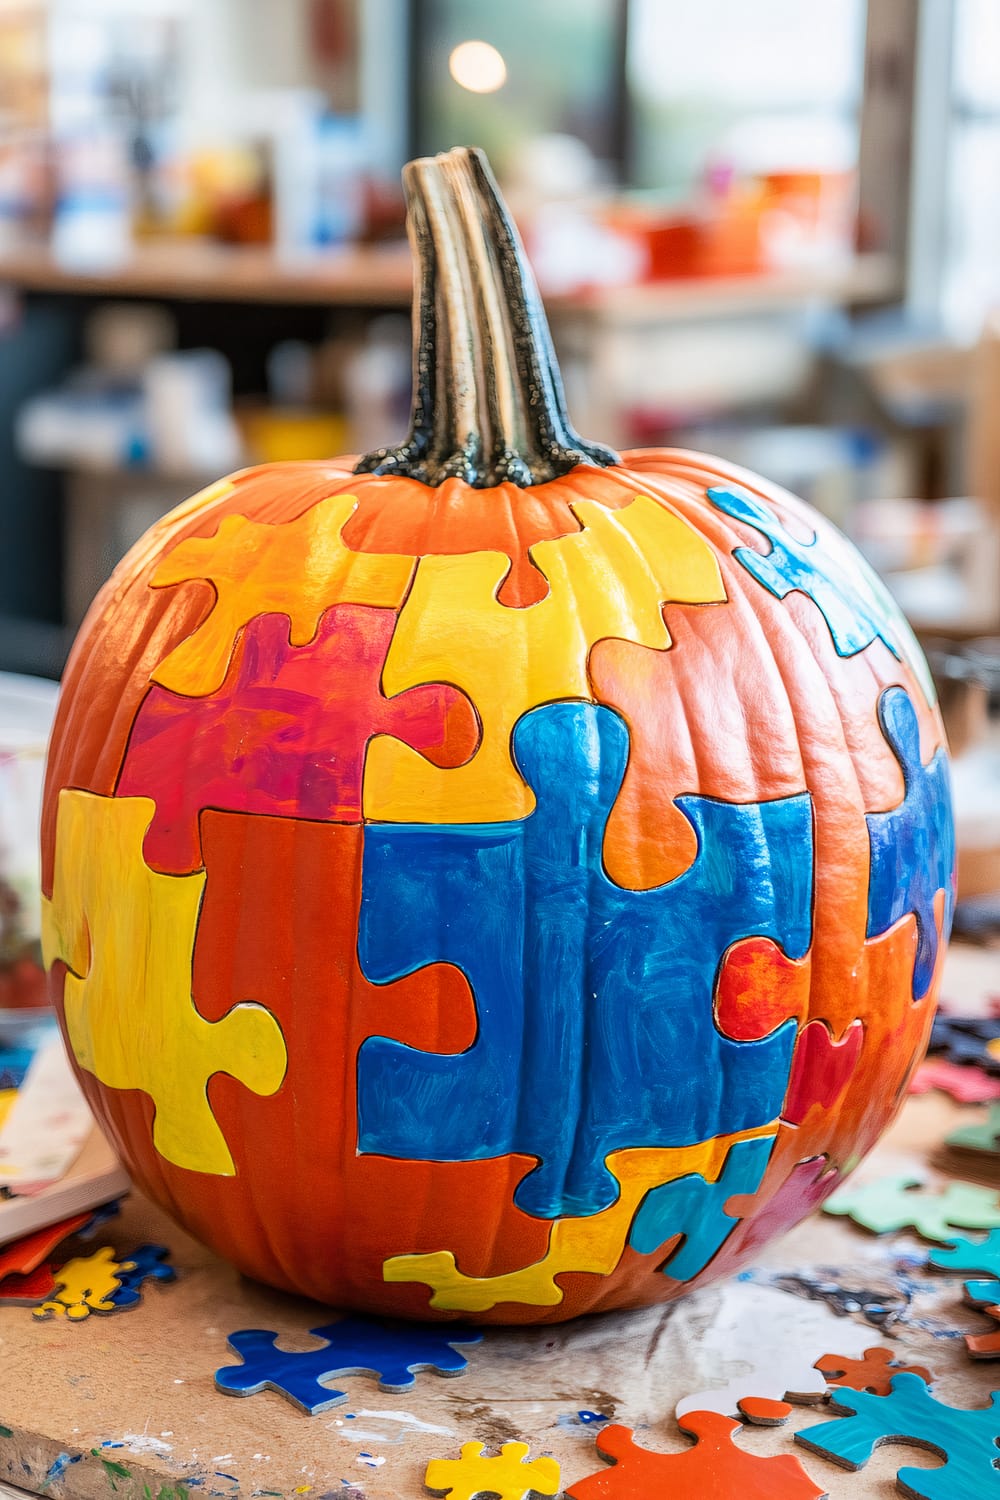
[[[382,693],[396,620],[391,609],[336,604],[312,640],[289,645],[288,618],[259,615],[241,632],[217,693],[192,700],[153,687],[117,784],[118,796],[156,802],[147,864],[180,873],[204,862],[202,807],[360,822],[375,735],[394,735],[439,766],[468,760],[478,720],[457,688],[429,682]]]

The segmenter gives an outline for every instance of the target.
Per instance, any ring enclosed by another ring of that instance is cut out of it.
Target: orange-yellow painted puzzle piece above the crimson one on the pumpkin
[[[397,609],[414,560],[351,552],[340,530],[355,508],[355,495],[331,495],[280,525],[226,516],[213,537],[189,537],[168,552],[154,588],[207,579],[217,597],[207,620],[163,657],[153,681],[189,698],[217,692],[240,630],[256,615],[288,615],[291,644],[303,646],[331,604]]]

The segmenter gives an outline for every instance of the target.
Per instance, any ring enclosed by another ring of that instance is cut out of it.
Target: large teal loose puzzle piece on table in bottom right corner
[[[901,1468],[897,1484],[913,1500],[982,1500],[996,1494],[1000,1392],[984,1410],[945,1406],[919,1376],[892,1378],[888,1396],[837,1392],[831,1401],[844,1418],[795,1434],[796,1443],[844,1468],[861,1468],[882,1443],[910,1443],[946,1460],[942,1468]]]

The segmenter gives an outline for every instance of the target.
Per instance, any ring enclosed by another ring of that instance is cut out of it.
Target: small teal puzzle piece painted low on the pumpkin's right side
[[[660,1269],[675,1281],[691,1281],[739,1224],[726,1214],[724,1204],[735,1192],[757,1191],[772,1146],[771,1136],[738,1140],[729,1148],[717,1182],[706,1182],[697,1172],[690,1172],[652,1188],[633,1220],[628,1233],[631,1248],[640,1256],[651,1256],[682,1233],[684,1244]]]

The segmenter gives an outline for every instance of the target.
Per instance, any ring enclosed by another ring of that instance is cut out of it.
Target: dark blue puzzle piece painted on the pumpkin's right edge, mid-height
[[[936,750],[921,762],[921,729],[909,694],[888,687],[879,699],[879,723],[903,768],[906,795],[888,813],[868,813],[871,874],[868,936],[885,933],[907,912],[916,916],[913,999],[927,994],[937,962],[934,897],[945,891],[945,940],[955,909],[955,824],[948,756]]]

